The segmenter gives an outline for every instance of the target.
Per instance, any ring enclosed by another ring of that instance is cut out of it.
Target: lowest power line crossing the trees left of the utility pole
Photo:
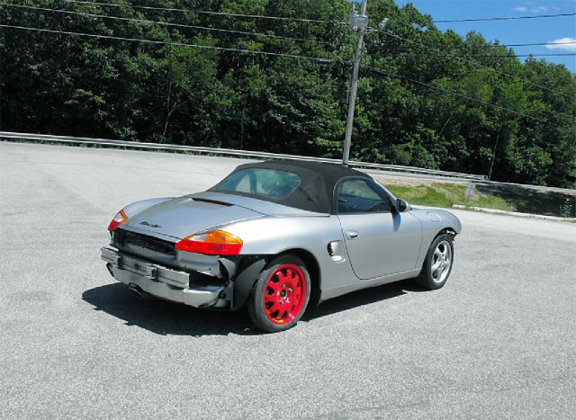
[[[319,63],[334,63],[335,62],[334,60],[331,60],[329,58],[299,56],[296,54],[284,54],[284,53],[280,53],[280,52],[251,51],[249,49],[231,49],[231,48],[224,48],[224,47],[214,47],[211,45],[187,44],[184,42],[167,42],[167,41],[163,41],[163,40],[140,40],[137,38],[114,37],[111,35],[96,35],[94,33],[72,32],[72,31],[55,31],[55,30],[50,30],[50,29],[31,28],[31,27],[27,27],[27,26],[15,26],[15,25],[0,24],[0,28],[12,28],[12,29],[18,29],[18,30],[23,30],[23,31],[40,31],[40,32],[49,32],[49,33],[61,33],[61,34],[65,34],[65,35],[98,38],[98,39],[103,39],[103,40],[126,40],[126,41],[133,41],[133,42],[143,42],[143,43],[148,43],[148,44],[170,45],[170,46],[175,46],[175,47],[186,47],[186,48],[197,48],[197,49],[216,49],[219,51],[234,51],[234,52],[240,52],[243,54],[258,54],[258,55],[275,56],[275,57],[302,58],[302,59],[308,59],[311,61],[317,61]]]

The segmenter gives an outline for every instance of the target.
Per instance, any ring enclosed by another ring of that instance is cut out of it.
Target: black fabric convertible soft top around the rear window
[[[320,164],[306,161],[274,161],[258,162],[256,164],[239,165],[232,174],[244,169],[262,168],[277,171],[291,172],[301,178],[298,187],[286,198],[277,199],[247,192],[231,192],[247,197],[255,197],[259,200],[273,201],[284,206],[296,209],[315,211],[318,213],[332,213],[332,199],[336,183],[347,176],[362,176],[370,178],[370,175],[350,169],[344,165]],[[219,191],[218,185],[211,191]],[[229,191],[226,191],[230,193]]]

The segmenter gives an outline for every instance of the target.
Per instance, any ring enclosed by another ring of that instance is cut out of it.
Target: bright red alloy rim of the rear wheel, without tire
[[[288,324],[297,317],[305,299],[306,279],[298,265],[282,264],[268,277],[264,312],[276,325]]]

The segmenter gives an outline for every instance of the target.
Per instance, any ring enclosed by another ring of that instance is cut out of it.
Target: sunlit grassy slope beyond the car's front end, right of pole
[[[466,186],[457,183],[432,183],[431,185],[395,185],[387,183],[397,197],[410,204],[426,205],[434,207],[452,207],[454,204],[464,206],[484,207],[487,209],[514,210],[514,208],[500,197],[474,192],[473,198],[464,200]]]

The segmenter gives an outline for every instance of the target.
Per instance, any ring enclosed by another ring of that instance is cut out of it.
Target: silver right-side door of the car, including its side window
[[[396,211],[390,195],[370,178],[344,178],[335,194],[347,254],[359,279],[416,268],[422,242],[418,218]]]

